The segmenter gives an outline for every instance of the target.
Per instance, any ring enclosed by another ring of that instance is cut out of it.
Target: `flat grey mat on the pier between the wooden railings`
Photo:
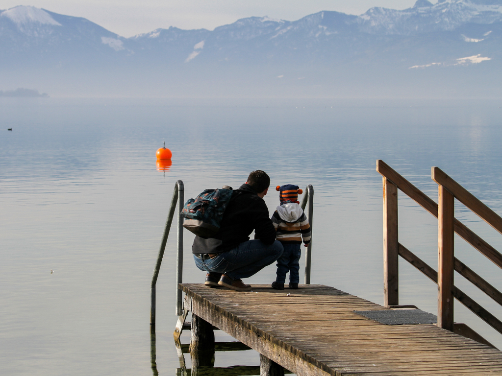
[[[437,322],[436,315],[420,309],[385,309],[354,312],[387,325],[433,324]]]

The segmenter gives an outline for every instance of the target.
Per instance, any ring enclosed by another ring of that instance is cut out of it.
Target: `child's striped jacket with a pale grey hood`
[[[272,216],[277,231],[276,239],[281,243],[310,243],[310,225],[299,204],[283,201]]]

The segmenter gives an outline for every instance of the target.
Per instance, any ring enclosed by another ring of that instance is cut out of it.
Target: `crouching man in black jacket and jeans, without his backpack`
[[[218,233],[212,238],[195,237],[192,252],[195,265],[208,272],[206,286],[249,291],[251,285],[241,278],[258,273],[283,253],[263,200],[269,185],[265,171],[251,172],[247,181],[233,191]],[[253,230],[255,240],[249,240]]]

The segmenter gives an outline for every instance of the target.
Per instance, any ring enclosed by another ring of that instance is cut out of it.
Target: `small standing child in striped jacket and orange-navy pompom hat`
[[[276,239],[279,240],[284,252],[277,260],[277,277],[272,282],[272,287],[276,290],[284,290],[284,282],[286,281],[286,273],[289,271],[289,288],[297,289],[300,282],[300,245],[305,247],[310,243],[310,225],[307,216],[303,213],[298,195],[303,193],[298,188],[298,185],[286,184],[277,186],[276,191],[279,191],[279,199],[281,205],[272,216],[272,223],[276,228]]]

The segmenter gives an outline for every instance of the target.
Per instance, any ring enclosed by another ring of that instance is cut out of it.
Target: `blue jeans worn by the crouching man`
[[[224,273],[232,279],[250,277],[276,261],[283,252],[279,241],[267,245],[261,240],[248,240],[213,259],[201,260],[195,255],[195,265],[200,270]]]

